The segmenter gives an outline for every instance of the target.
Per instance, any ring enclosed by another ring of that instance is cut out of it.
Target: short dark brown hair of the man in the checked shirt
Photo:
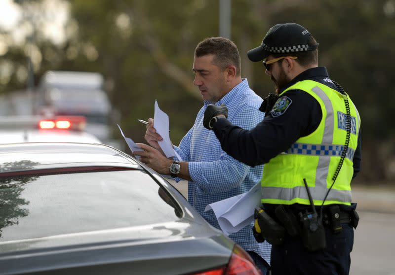
[[[200,41],[195,49],[195,56],[214,55],[213,63],[224,71],[228,66],[236,67],[236,75],[240,75],[240,54],[237,46],[224,37],[209,37]]]

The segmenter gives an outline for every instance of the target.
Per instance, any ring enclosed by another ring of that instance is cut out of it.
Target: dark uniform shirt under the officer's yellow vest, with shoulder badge
[[[282,91],[302,80],[314,80],[336,91],[339,89],[329,79],[325,67],[305,70],[288,83]],[[282,92],[280,91],[280,93]],[[340,91],[339,91],[340,92]],[[281,152],[289,149],[299,138],[313,133],[321,119],[322,111],[314,97],[302,90],[289,90],[284,94],[292,103],[281,115],[273,117],[266,113],[264,120],[251,131],[234,126],[227,119],[219,119],[213,127],[222,149],[230,156],[249,166],[269,162]],[[354,175],[360,171],[361,132],[354,154]]]

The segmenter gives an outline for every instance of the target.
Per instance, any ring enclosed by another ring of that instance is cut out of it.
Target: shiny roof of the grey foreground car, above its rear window
[[[0,173],[86,166],[140,167],[125,153],[104,144],[31,142],[0,145]]]

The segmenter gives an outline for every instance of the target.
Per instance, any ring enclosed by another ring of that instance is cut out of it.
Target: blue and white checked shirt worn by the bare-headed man
[[[243,79],[215,105],[228,107],[228,119],[243,129],[254,128],[264,118],[258,110],[262,99]],[[204,102],[197,113],[195,124],[174,149],[183,161],[188,162],[189,174],[193,181],[188,183],[188,201],[212,226],[220,229],[212,210],[204,208],[250,190],[261,180],[263,165],[250,167],[238,162],[222,149],[213,131],[203,127],[203,115],[209,102]],[[181,180],[176,178],[177,181]],[[258,243],[252,235],[251,223],[229,237],[246,251],[255,251],[270,264],[271,245]]]

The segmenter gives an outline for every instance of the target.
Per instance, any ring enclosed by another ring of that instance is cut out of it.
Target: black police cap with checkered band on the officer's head
[[[262,44],[247,52],[249,60],[258,62],[271,54],[287,54],[313,51],[318,47],[309,45],[312,34],[306,28],[296,23],[277,24],[270,28],[262,40]]]

